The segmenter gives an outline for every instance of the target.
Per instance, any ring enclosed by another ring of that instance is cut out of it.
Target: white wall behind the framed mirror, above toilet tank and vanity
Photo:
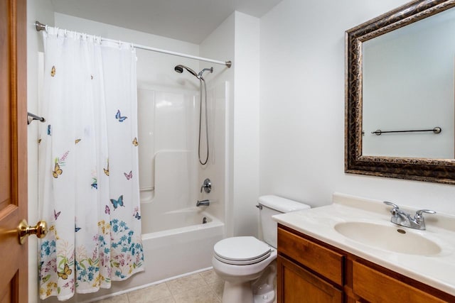
[[[405,0],[284,0],[261,18],[259,194],[333,192],[455,214],[455,186],[344,173],[344,32]]]

